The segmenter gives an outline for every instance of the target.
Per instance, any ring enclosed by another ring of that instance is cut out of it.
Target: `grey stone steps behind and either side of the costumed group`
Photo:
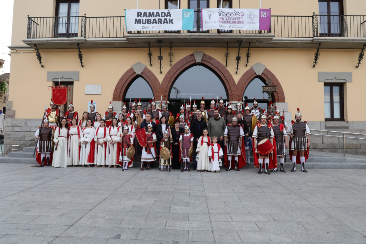
[[[37,164],[36,157],[33,158],[34,147],[25,147],[23,151],[9,153],[7,157],[1,157],[1,163],[12,164]],[[251,164],[244,168],[254,168],[254,158],[250,159]],[[341,157],[336,153],[322,153],[310,151],[310,156],[306,161],[308,169],[366,169],[366,157],[360,155],[346,155]],[[287,153],[285,168],[292,168],[290,158]]]

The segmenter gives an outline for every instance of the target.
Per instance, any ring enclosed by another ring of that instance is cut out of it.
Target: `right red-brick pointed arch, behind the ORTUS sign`
[[[240,77],[238,84],[236,84],[236,91],[238,94],[236,96],[240,99],[243,98],[244,91],[246,87],[249,85],[251,80],[255,77],[261,76],[264,80],[271,78],[273,81],[273,85],[277,86],[277,93],[274,93],[277,102],[285,102],[285,93],[283,92],[282,86],[276,76],[267,68],[264,69],[261,75],[257,75],[253,68],[247,70],[242,77]],[[275,102],[275,101],[273,101]]]

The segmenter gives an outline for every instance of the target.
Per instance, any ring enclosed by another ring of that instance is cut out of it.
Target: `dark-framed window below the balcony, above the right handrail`
[[[343,83],[324,84],[324,118],[325,120],[344,121]]]

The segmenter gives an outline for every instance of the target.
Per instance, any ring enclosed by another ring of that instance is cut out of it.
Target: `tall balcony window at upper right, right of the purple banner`
[[[319,33],[322,36],[341,36],[343,0],[319,0]]]

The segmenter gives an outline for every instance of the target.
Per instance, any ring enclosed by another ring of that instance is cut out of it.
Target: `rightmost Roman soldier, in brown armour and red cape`
[[[298,112],[295,114],[296,116],[302,117],[300,113],[300,109],[298,109]],[[296,119],[295,119],[296,120]],[[293,137],[290,137],[290,147],[289,147],[289,154],[290,159],[292,161],[292,170],[291,172],[296,171],[296,164],[301,164],[301,171],[307,172],[305,169],[305,162],[306,159],[309,158],[309,147],[307,146],[307,136],[310,135],[310,129],[307,125],[307,122],[302,122],[301,120],[298,121],[291,121],[291,126],[289,128],[289,131]],[[301,157],[298,153],[296,157],[292,156],[292,151],[305,151],[304,157]]]

